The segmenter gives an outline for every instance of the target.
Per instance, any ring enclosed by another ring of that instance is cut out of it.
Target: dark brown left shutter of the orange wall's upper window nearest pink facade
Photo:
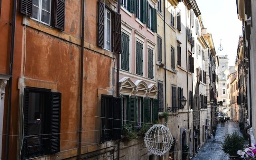
[[[104,47],[104,11],[105,4],[100,2],[98,10],[98,46],[100,47]]]

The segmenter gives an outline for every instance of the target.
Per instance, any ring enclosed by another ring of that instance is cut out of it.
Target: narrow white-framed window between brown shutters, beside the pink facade
[[[110,19],[107,18],[107,12],[110,13]],[[110,28],[109,28],[109,31],[110,31],[110,48],[108,49],[107,48],[107,31],[108,31],[108,28],[107,28],[107,20],[110,20]],[[104,49],[105,50],[108,50],[108,51],[112,51],[112,12],[108,9],[108,8],[105,8],[105,12],[104,12]]]

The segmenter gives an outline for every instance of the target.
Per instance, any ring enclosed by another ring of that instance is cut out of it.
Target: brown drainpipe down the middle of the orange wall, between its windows
[[[84,5],[85,5],[85,1],[82,0],[78,160],[81,159],[81,148],[82,148],[81,141],[82,141],[83,78],[84,78],[84,12],[85,12]]]

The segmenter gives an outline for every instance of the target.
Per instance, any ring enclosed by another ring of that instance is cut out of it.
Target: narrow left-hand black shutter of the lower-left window
[[[27,139],[28,139],[28,104],[29,104],[29,90],[24,88],[24,103],[23,103],[23,114],[24,114],[24,139],[23,139],[23,148],[22,154],[23,157],[26,157],[27,150]]]

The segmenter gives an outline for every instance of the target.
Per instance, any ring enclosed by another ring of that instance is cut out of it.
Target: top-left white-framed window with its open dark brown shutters
[[[20,13],[48,26],[64,30],[65,0],[20,0]]]

